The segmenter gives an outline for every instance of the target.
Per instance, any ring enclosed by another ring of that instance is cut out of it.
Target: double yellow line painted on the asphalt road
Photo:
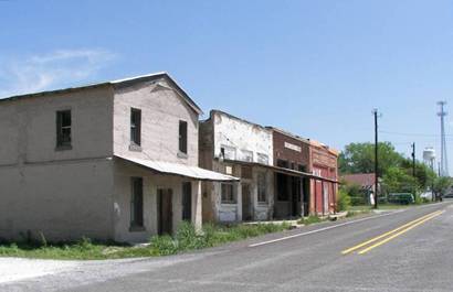
[[[356,250],[365,247],[364,249],[358,251],[358,255],[364,255],[364,253],[370,251],[371,249],[377,248],[379,246],[382,246],[383,244],[392,240],[393,238],[396,238],[396,237],[398,237],[402,234],[405,234],[407,231],[411,230],[412,228],[415,228],[417,226],[422,225],[423,223],[425,223],[425,221],[441,215],[442,213],[444,213],[444,210],[436,210],[436,212],[430,213],[430,214],[428,214],[425,216],[422,216],[422,217],[420,217],[415,220],[409,221],[409,223],[407,223],[407,224],[404,224],[404,225],[402,225],[398,228],[394,228],[393,230],[390,230],[390,231],[384,232],[380,236],[371,238],[371,239],[369,239],[365,242],[361,242],[357,246],[354,246],[349,249],[345,249],[344,251],[341,251],[341,253],[343,255],[348,255],[352,251],[356,251]],[[380,240],[380,239],[382,239],[382,240]],[[378,241],[378,242],[376,242],[376,241]],[[376,242],[376,244],[373,244],[373,242]],[[369,246],[370,244],[373,244],[373,245]]]

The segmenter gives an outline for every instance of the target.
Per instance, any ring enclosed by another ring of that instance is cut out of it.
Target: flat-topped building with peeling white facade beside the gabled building
[[[200,166],[241,177],[241,182],[203,184],[203,219],[211,221],[273,218],[272,130],[212,110],[200,122]]]

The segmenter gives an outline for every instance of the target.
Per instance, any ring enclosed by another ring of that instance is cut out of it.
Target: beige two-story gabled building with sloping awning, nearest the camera
[[[201,109],[166,73],[0,99],[0,238],[146,241],[201,227]]]

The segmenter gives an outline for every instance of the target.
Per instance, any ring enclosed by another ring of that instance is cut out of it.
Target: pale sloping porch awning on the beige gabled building
[[[219,172],[208,171],[198,166],[189,166],[185,164],[170,163],[155,160],[144,160],[137,158],[116,155],[116,159],[133,163],[135,165],[151,170],[155,173],[177,175],[197,181],[211,181],[211,182],[235,182],[240,179],[227,175]]]

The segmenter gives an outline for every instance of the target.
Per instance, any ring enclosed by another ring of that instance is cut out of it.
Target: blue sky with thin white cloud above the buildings
[[[405,133],[381,139],[421,158],[453,107],[452,36],[447,0],[0,0],[0,96],[166,71],[207,113],[338,149],[371,141],[379,108]]]

